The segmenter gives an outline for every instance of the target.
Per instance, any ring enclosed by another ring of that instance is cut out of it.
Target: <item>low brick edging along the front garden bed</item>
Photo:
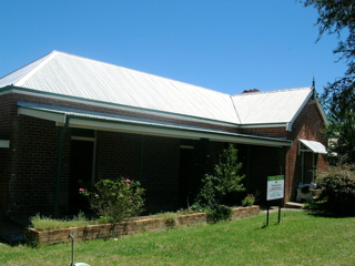
[[[258,206],[239,207],[232,209],[232,219],[252,217],[260,213]],[[178,216],[178,225],[195,225],[207,223],[206,213],[189,214]],[[58,243],[70,242],[69,234],[74,236],[75,241],[91,241],[98,238],[108,238],[121,235],[130,235],[143,231],[165,231],[176,226],[174,222],[165,218],[146,218],[141,221],[124,222],[120,224],[88,225],[81,227],[70,227],[53,231],[36,231],[28,228],[26,241],[38,247],[53,245]]]

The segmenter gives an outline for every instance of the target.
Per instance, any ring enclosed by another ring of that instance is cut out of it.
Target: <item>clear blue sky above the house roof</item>
[[[230,94],[342,76],[337,39],[294,0],[0,0],[0,76],[52,50]]]

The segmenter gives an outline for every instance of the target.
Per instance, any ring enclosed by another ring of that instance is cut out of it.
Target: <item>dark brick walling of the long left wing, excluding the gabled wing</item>
[[[26,101],[49,105],[68,106],[97,112],[131,115],[161,121],[181,122],[153,115],[128,113],[95,105],[9,93],[0,96],[0,135],[9,139],[10,150],[0,156],[0,213],[8,209],[30,213],[51,213],[54,204],[57,139],[54,122],[17,114],[17,102]],[[184,122],[194,124],[193,122]],[[216,127],[207,123],[201,126]],[[235,129],[223,127],[234,131]],[[68,208],[68,186],[70,170],[70,135],[68,129],[62,151],[62,173],[60,184],[60,208]],[[142,143],[143,140],[143,143]],[[143,150],[142,150],[143,149]],[[138,134],[98,132],[95,177],[106,178],[123,175],[139,178],[146,188],[148,205],[158,203],[178,205],[180,140]],[[169,207],[166,206],[166,207]]]

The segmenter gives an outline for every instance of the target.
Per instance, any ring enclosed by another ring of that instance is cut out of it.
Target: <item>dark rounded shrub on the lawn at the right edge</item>
[[[353,167],[343,165],[331,167],[327,173],[318,173],[316,183],[322,187],[320,202],[311,208],[334,215],[355,215],[355,173]]]

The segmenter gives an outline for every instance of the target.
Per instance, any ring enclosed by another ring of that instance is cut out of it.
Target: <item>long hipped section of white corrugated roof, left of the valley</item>
[[[239,122],[229,94],[58,51],[0,81],[0,86],[8,84],[209,120]]]

